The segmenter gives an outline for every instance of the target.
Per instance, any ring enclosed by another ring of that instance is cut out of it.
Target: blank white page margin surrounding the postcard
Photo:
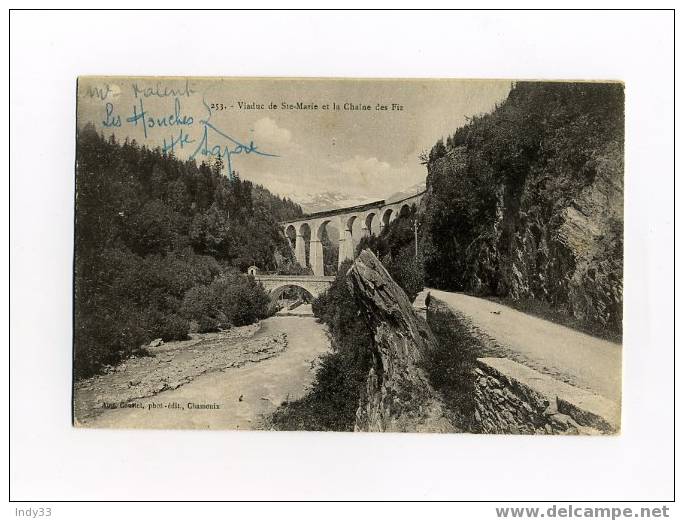
[[[671,499],[672,17],[14,12],[11,499]],[[625,81],[622,434],[72,428],[74,114],[76,77],[85,74]],[[367,514],[381,516],[376,507],[369,505]],[[166,512],[186,518],[202,508]],[[401,510],[413,518],[428,512]],[[118,506],[97,512],[103,519],[121,515]],[[283,507],[272,515],[281,513],[292,514]],[[344,508],[328,514],[348,517]]]

